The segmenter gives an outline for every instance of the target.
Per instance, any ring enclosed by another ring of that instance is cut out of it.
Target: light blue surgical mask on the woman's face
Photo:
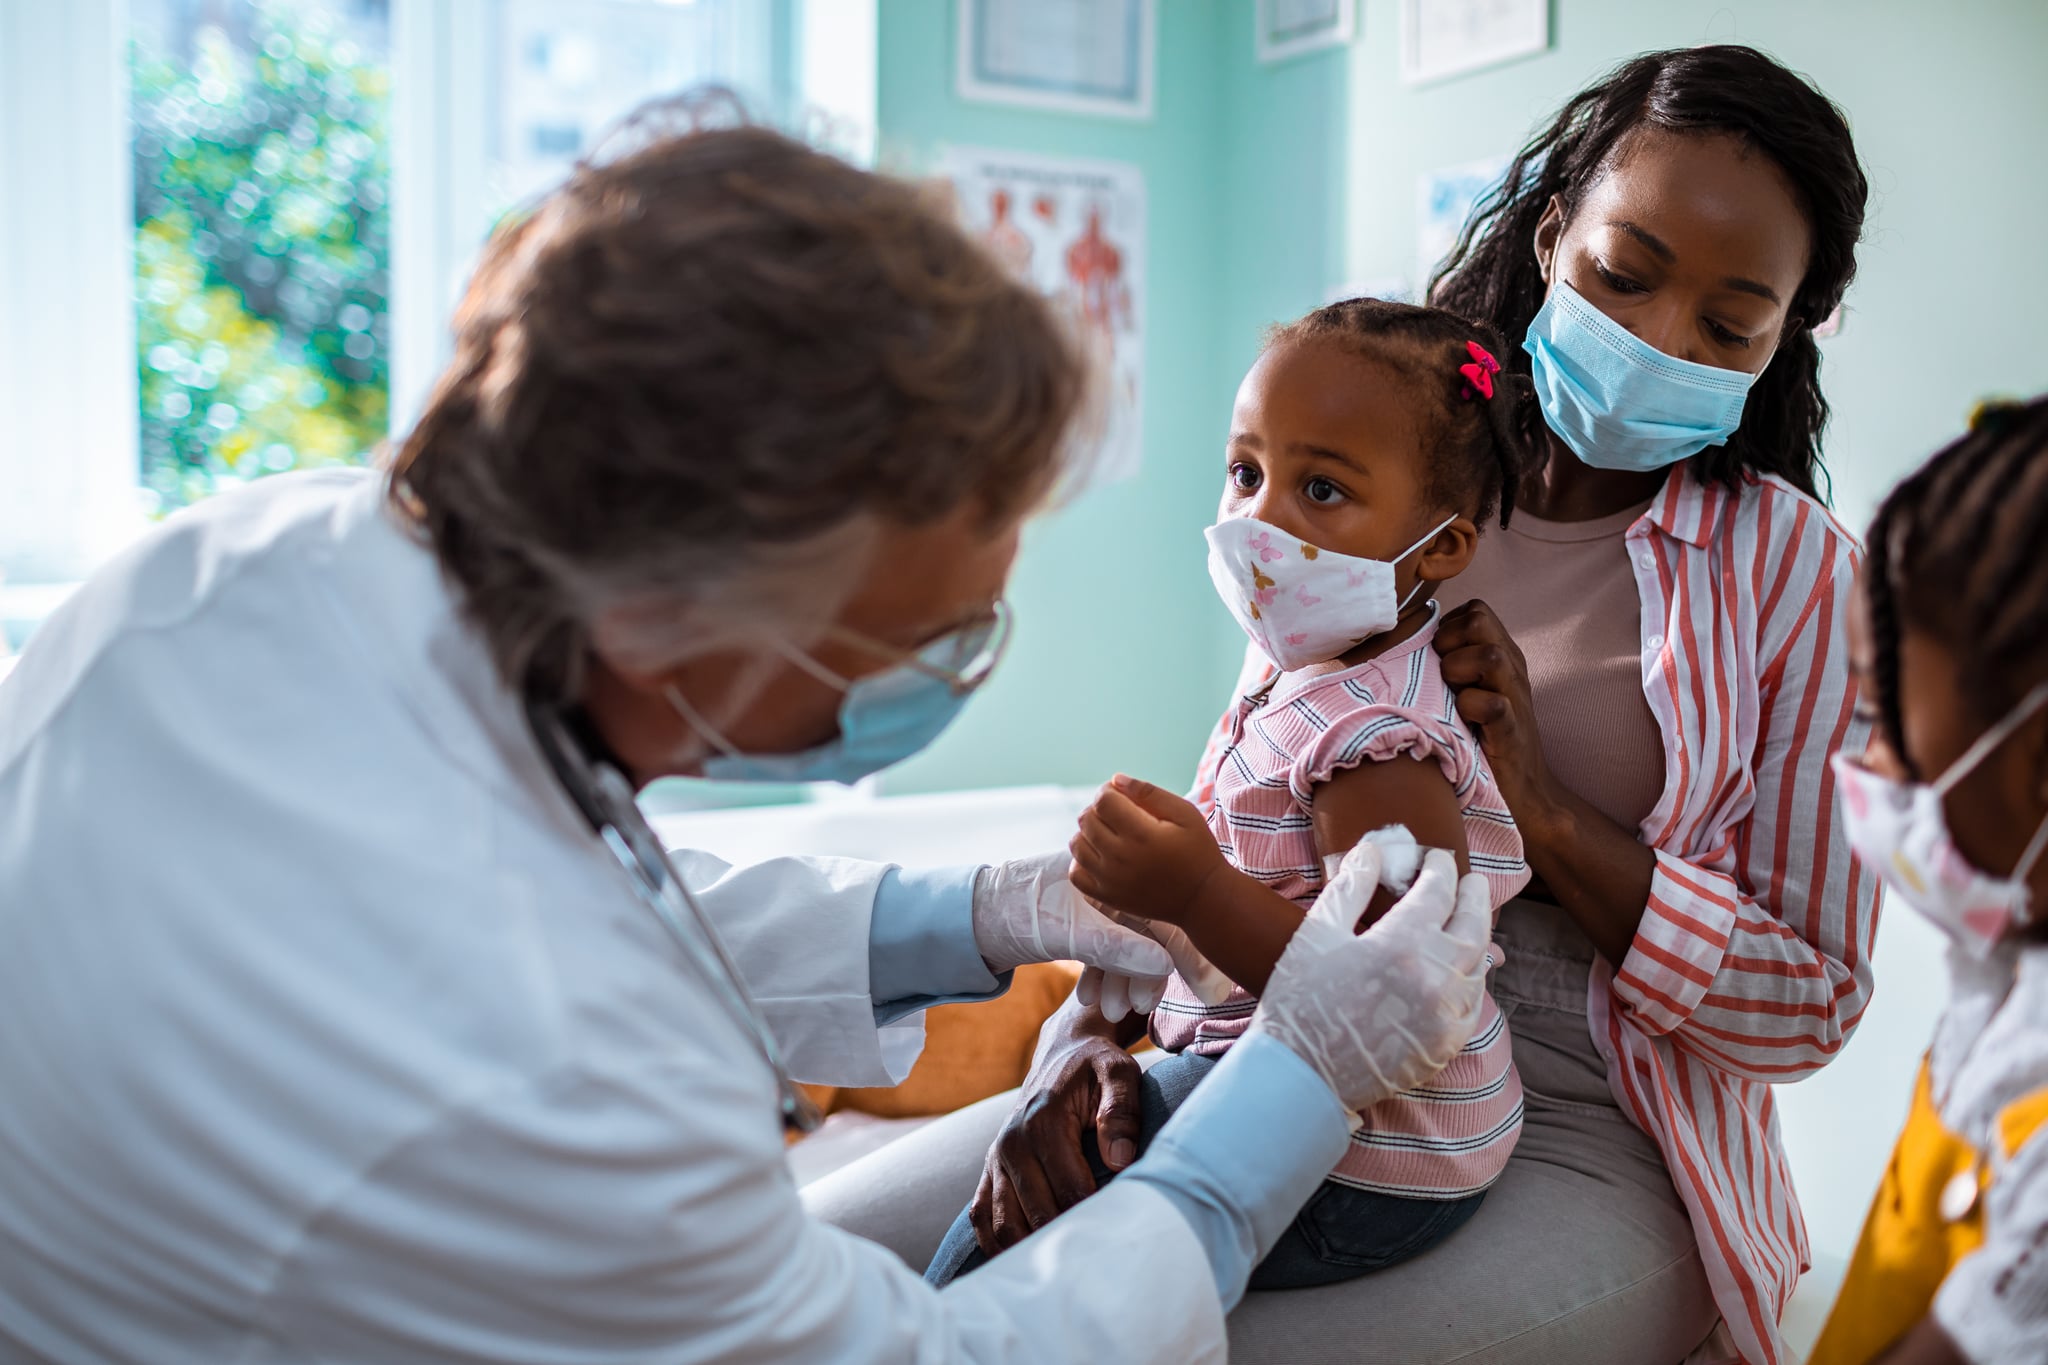
[[[1544,422],[1593,469],[1655,471],[1724,444],[1757,381],[1663,354],[1563,280],[1522,350]]]

